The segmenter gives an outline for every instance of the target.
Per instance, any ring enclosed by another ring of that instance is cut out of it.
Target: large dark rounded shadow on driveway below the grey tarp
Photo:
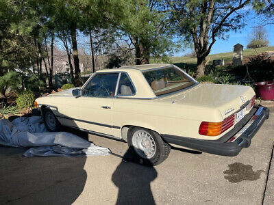
[[[72,204],[82,193],[86,156],[27,158],[23,152],[0,147],[0,204]]]

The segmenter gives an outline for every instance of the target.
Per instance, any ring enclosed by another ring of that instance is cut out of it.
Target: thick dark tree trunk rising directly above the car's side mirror
[[[75,86],[79,87],[79,86],[82,86],[82,79],[81,79],[81,70],[80,70],[80,65],[79,65],[76,29],[71,30],[71,44],[73,45]]]

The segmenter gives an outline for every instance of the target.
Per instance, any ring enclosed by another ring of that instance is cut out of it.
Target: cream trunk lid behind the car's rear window
[[[162,97],[162,100],[190,108],[219,109],[223,118],[227,118],[254,95],[255,92],[249,86],[203,83],[189,90]]]

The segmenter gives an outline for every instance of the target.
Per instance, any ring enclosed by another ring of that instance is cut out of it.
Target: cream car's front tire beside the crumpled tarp
[[[44,119],[45,126],[49,132],[58,132],[60,131],[61,124],[57,120],[53,111],[49,108],[42,109],[42,115]]]

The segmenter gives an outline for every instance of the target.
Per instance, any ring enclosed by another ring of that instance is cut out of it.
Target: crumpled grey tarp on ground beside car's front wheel
[[[66,132],[50,133],[42,117],[0,120],[0,144],[29,148],[24,156],[74,156],[110,154],[108,148],[95,146],[77,135]]]

